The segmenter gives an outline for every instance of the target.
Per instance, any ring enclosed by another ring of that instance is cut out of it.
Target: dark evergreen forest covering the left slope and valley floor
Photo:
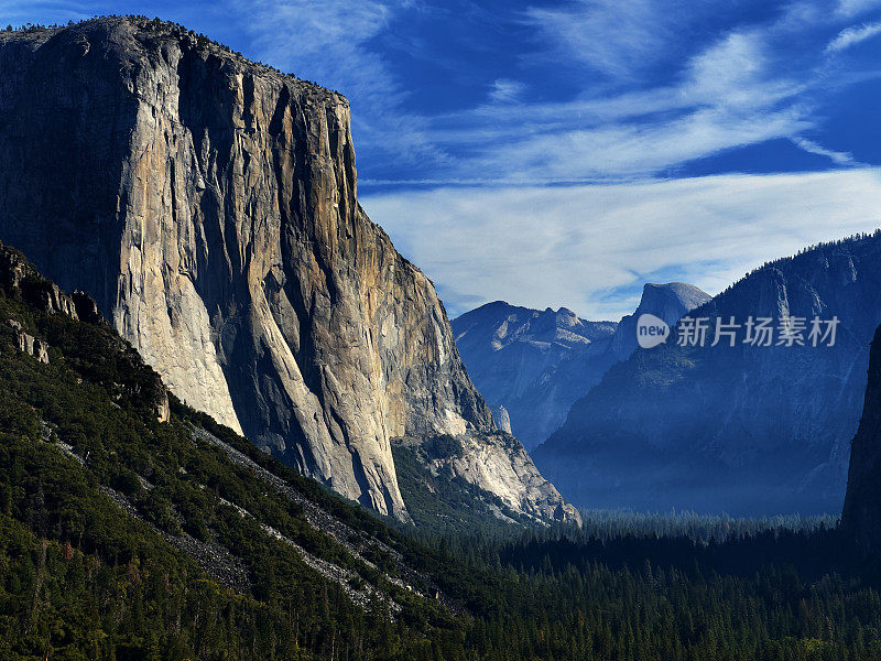
[[[173,397],[160,422],[155,373],[56,295],[0,248],[1,659],[881,658],[834,521],[392,527]]]

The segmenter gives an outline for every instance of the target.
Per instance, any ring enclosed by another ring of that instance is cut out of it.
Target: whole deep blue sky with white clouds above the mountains
[[[881,0],[0,0],[102,13],[346,94],[361,202],[452,315],[617,317],[881,225]]]

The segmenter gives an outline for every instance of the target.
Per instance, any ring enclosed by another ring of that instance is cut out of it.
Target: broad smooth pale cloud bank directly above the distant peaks
[[[632,312],[642,284],[717,293],[766,260],[881,225],[881,172],[569,187],[440,188],[362,201],[455,315],[503,299]]]

